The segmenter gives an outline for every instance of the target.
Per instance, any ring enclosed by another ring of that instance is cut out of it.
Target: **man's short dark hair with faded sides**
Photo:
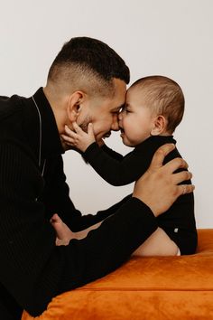
[[[66,42],[51,64],[48,82],[90,95],[113,96],[113,79],[129,83],[125,61],[106,43],[88,37]]]

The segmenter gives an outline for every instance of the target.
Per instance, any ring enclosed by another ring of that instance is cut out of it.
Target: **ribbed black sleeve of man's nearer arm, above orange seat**
[[[0,282],[32,316],[60,292],[120,266],[157,228],[153,212],[130,197],[86,239],[56,247],[38,198],[42,176],[20,147],[0,144],[0,176]]]

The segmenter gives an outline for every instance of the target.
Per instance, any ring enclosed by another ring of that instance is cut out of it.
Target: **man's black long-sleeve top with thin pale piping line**
[[[69,198],[51,106],[42,88],[33,97],[42,118],[41,167],[40,119],[32,98],[0,97],[0,315],[4,320],[20,319],[23,308],[32,316],[42,314],[53,296],[105,276],[157,229],[153,212],[131,196],[96,215],[82,216]],[[50,223],[55,212],[72,231],[106,220],[86,239],[56,247]]]

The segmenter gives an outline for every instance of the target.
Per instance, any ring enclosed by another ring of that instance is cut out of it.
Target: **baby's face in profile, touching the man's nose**
[[[154,116],[141,89],[140,92],[137,87],[127,90],[125,108],[118,119],[125,146],[137,146],[151,136]]]

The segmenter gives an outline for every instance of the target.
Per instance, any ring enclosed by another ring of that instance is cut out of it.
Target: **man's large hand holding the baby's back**
[[[134,184],[133,196],[147,204],[155,216],[166,212],[181,194],[194,190],[194,185],[181,184],[182,181],[190,180],[190,172],[173,174],[179,168],[188,168],[185,160],[176,158],[162,165],[164,157],[173,148],[171,144],[161,146],[153,155],[149,169]]]

